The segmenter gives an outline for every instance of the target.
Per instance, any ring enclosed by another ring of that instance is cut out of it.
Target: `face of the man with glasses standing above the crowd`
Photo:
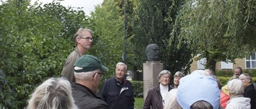
[[[77,39],[78,45],[82,47],[82,49],[89,50],[91,44],[93,42],[93,37],[87,31],[83,31],[81,37]]]

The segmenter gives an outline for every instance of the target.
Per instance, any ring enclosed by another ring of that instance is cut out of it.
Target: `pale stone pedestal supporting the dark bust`
[[[163,70],[160,61],[146,61],[143,63],[143,96],[146,99],[147,91],[159,84],[158,74]]]

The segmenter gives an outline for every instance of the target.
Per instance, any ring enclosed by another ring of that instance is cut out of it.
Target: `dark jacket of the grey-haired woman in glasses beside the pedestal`
[[[170,91],[171,88],[169,88]],[[162,109],[162,95],[160,93],[159,85],[157,87],[151,88],[146,95],[146,99],[144,101],[143,109]]]

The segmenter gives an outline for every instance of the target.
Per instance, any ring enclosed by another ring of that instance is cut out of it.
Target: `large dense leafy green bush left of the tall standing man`
[[[74,42],[65,36],[75,32],[64,32],[86,16],[59,3],[31,6],[26,0],[3,2],[0,14],[0,108],[22,109],[38,84],[60,76],[74,49]]]

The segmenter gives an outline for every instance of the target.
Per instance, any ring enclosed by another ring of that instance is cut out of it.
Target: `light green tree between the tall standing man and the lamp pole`
[[[95,6],[90,17],[90,28],[94,30],[94,42],[89,53],[97,56],[102,64],[110,68],[104,78],[114,76],[115,64],[122,61],[123,51],[123,16],[114,0],[105,1],[102,6]]]

